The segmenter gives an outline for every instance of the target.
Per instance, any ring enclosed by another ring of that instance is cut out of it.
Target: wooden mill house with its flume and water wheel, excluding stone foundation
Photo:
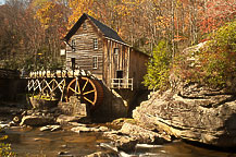
[[[76,95],[95,107],[102,104],[102,85],[110,89],[140,89],[148,56],[124,43],[115,31],[83,14],[64,37],[65,70],[33,72],[28,90],[40,95]]]

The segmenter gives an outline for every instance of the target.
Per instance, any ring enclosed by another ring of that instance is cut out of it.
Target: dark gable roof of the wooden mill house
[[[103,34],[104,37],[114,39],[116,41],[125,44],[122,38],[117,35],[115,31],[110,28],[109,26],[104,25],[103,23],[99,22],[98,20],[94,19],[92,16],[84,13],[79,20],[75,23],[75,25],[70,29],[70,32],[64,37],[65,41],[69,41],[70,38],[77,32],[80,25],[84,23],[86,19],[89,19]]]

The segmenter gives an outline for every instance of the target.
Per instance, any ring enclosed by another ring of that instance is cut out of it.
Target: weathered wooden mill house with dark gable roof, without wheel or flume
[[[89,71],[109,88],[141,88],[149,57],[109,26],[84,13],[64,40],[66,69]]]

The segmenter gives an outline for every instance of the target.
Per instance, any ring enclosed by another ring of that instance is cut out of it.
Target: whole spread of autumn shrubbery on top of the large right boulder
[[[212,88],[227,87],[236,77],[236,21],[227,23],[209,37],[199,49],[191,47],[176,60],[175,73],[182,80]],[[194,60],[189,61],[190,58]]]

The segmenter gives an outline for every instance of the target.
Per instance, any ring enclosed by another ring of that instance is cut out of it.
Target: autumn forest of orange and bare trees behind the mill
[[[154,80],[153,74],[146,75],[146,85],[157,88],[151,82],[166,80],[171,62],[183,49],[209,40],[209,34],[235,21],[236,1],[7,0],[0,5],[0,68],[62,68],[63,37],[83,13],[150,55],[149,73],[159,75]]]

